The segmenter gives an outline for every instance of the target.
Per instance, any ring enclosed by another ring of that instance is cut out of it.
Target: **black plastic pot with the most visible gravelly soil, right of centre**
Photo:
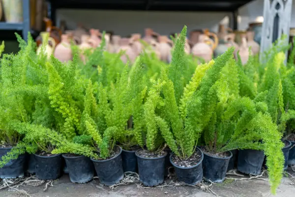
[[[178,180],[189,185],[195,185],[202,181],[203,159],[204,154],[198,147],[196,147],[195,153],[187,160],[181,160],[174,154],[170,156],[170,162],[175,167]]]

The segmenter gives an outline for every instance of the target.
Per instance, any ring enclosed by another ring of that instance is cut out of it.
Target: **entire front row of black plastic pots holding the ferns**
[[[295,143],[294,143],[295,144]],[[288,153],[291,142],[283,149],[285,155],[285,167],[288,164]],[[295,148],[291,149],[294,151]],[[10,148],[0,149],[0,156],[6,154]],[[30,155],[33,162],[29,163],[29,169],[35,171],[39,179],[59,178],[62,171],[62,157],[64,158],[70,180],[74,183],[85,183],[94,176],[94,169],[100,182],[105,185],[118,183],[127,171],[139,172],[140,181],[146,186],[156,186],[164,182],[168,168],[173,165],[179,181],[187,184],[196,184],[205,180],[210,182],[222,182],[226,172],[235,166],[237,170],[247,174],[258,175],[264,160],[264,152],[256,150],[239,150],[229,152],[229,157],[217,158],[203,153],[199,148],[196,149],[202,155],[201,161],[192,167],[180,167],[172,162],[173,154],[165,151],[166,155],[159,158],[144,158],[137,154],[137,151],[125,151],[120,148],[120,153],[108,160],[93,160],[84,156],[53,155],[39,156]],[[289,154],[290,158],[291,154]],[[24,175],[25,155],[21,155],[17,160],[12,160],[3,168],[0,168],[0,178],[16,178]],[[235,159],[237,158],[237,159]],[[237,160],[237,162],[236,162]],[[91,162],[92,161],[92,162]],[[168,162],[169,161],[169,162]],[[292,160],[291,160],[292,161]],[[289,163],[290,164],[290,163]],[[35,168],[30,167],[35,165]],[[94,167],[93,167],[94,166]],[[28,171],[30,171],[28,170]]]

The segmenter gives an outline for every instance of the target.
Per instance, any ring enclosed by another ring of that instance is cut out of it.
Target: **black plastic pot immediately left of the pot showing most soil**
[[[138,151],[135,152],[137,156],[139,179],[145,186],[157,186],[164,182],[165,174],[165,155],[158,158],[145,158],[138,155]]]

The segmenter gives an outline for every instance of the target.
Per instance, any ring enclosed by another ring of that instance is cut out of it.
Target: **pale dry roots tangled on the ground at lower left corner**
[[[48,186],[53,187],[53,180],[39,180],[36,178],[36,176],[30,176],[30,177],[21,177],[21,178],[15,178],[15,179],[2,179],[1,184],[0,184],[0,190],[9,188],[9,189],[14,189],[18,191],[18,193],[23,192],[24,195],[29,195],[25,194],[24,190],[18,190],[16,188],[19,188],[20,186],[33,186],[37,187],[40,185],[43,185],[45,183],[45,188],[43,191],[46,191],[48,189]],[[26,192],[26,191],[25,191]]]

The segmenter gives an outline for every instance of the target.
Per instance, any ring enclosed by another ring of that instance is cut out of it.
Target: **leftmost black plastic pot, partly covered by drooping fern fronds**
[[[0,158],[12,148],[0,148]],[[0,168],[0,178],[17,178],[25,174],[26,154],[20,155],[16,160],[11,160]]]

